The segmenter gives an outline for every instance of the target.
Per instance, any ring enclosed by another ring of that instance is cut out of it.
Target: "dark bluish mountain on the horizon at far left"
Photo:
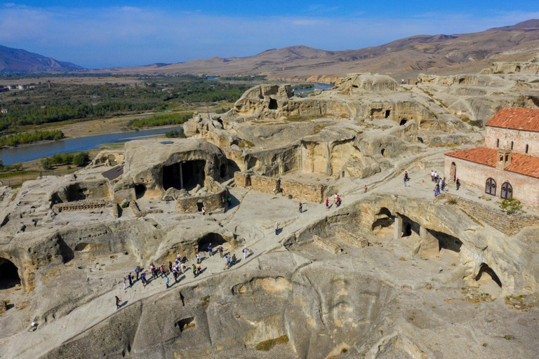
[[[83,69],[71,62],[63,62],[30,53],[20,48],[0,46],[0,72],[56,72]]]

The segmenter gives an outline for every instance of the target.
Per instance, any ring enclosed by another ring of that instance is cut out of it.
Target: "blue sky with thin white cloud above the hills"
[[[0,45],[87,68],[243,57],[270,48],[376,46],[539,18],[535,1],[0,2]]]

